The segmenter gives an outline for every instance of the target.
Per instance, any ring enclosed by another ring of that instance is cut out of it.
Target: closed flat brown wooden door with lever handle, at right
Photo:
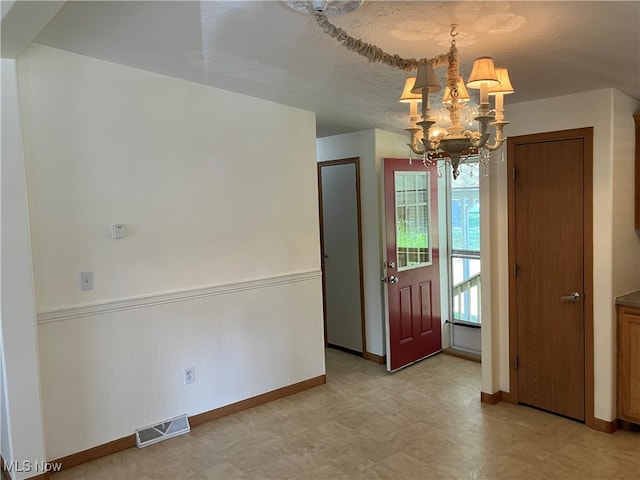
[[[517,398],[578,420],[585,419],[583,143],[511,146]]]

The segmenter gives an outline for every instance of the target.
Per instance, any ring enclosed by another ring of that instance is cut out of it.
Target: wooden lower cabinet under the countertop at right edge
[[[617,308],[618,418],[640,424],[640,307]]]

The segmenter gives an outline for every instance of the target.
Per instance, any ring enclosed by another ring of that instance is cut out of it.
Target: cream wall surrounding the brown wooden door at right
[[[637,106],[637,101],[611,89],[508,106],[510,136],[594,127],[595,416],[605,421],[615,418],[614,297],[640,288],[640,244],[629,207],[622,207],[632,204],[632,190],[628,179],[620,182],[633,176],[630,112]],[[492,378],[483,378],[483,388],[497,383],[509,391],[506,162],[494,162],[491,176],[491,286],[496,292],[491,296],[491,322],[497,334],[491,361],[499,368],[486,372]],[[619,247],[624,249],[617,251]],[[484,344],[483,354],[489,355]]]

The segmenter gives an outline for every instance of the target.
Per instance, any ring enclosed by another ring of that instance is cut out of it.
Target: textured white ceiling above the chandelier
[[[465,77],[478,56],[509,68],[507,113],[510,103],[601,88],[640,99],[638,1],[369,0],[330,20],[405,58],[445,53],[458,24]],[[406,72],[370,64],[279,1],[73,1],[35,41],[314,111],[318,136],[402,132],[407,122]]]

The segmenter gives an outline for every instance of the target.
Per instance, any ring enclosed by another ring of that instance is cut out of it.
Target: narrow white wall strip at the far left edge
[[[2,339],[2,440],[8,462],[44,461],[25,159],[15,60],[2,59],[2,164],[0,169],[0,320]],[[12,472],[15,479],[42,472]]]

